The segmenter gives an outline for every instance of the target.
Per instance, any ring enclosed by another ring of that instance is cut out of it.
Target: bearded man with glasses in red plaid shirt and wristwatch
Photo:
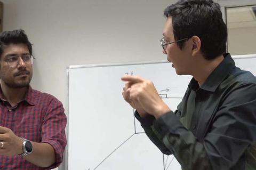
[[[29,85],[34,63],[23,30],[0,34],[0,169],[51,169],[62,161],[62,103]]]

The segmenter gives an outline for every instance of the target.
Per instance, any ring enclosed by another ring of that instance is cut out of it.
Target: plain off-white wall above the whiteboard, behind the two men
[[[65,108],[67,66],[166,59],[159,44],[165,21],[163,10],[175,0],[2,2],[4,30],[22,28],[34,44],[31,85],[56,96]],[[219,2],[226,5],[231,0]]]

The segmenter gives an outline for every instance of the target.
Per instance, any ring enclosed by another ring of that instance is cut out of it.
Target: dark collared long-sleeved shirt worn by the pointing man
[[[228,53],[202,86],[191,79],[175,112],[135,117],[182,169],[256,169],[256,78]]]

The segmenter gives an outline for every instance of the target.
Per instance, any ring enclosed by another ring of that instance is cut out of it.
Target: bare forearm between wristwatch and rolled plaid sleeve
[[[55,163],[55,151],[49,143],[32,142],[33,151],[24,158],[39,167],[49,167]]]

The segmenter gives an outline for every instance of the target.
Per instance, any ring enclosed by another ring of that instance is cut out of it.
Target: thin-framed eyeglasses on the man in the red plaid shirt
[[[20,62],[20,59],[22,59],[22,61],[28,65],[32,65],[35,60],[33,55],[26,54],[26,55],[21,55],[21,56],[19,56],[19,55],[7,56],[5,58],[5,62],[7,62],[9,67],[16,67],[18,65],[18,63]]]

